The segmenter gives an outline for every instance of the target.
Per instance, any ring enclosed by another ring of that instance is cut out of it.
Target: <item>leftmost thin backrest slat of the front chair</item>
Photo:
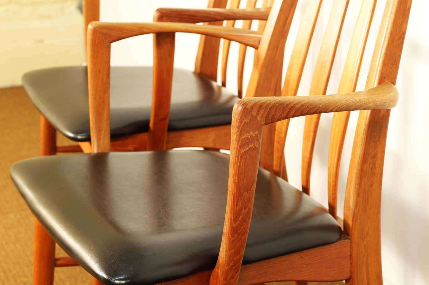
[[[290,56],[289,65],[284,78],[281,96],[296,96],[302,70],[307,59],[308,48],[313,37],[314,27],[320,11],[322,0],[309,0],[305,6],[304,15],[296,36],[295,45]],[[286,140],[289,120],[277,122],[274,143],[273,168],[276,175],[287,177],[286,169],[283,169],[284,144]],[[283,175],[281,175],[283,173]]]

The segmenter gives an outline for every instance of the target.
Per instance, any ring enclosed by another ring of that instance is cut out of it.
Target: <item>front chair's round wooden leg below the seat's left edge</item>
[[[54,284],[55,242],[34,219],[33,285]]]

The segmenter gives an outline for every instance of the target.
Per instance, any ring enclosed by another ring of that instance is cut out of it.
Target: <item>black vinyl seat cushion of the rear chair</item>
[[[85,66],[47,68],[22,77],[40,113],[63,135],[90,141],[88,71]],[[169,131],[231,124],[239,98],[203,75],[174,69]],[[111,137],[147,132],[152,67],[115,67],[110,73]]]

